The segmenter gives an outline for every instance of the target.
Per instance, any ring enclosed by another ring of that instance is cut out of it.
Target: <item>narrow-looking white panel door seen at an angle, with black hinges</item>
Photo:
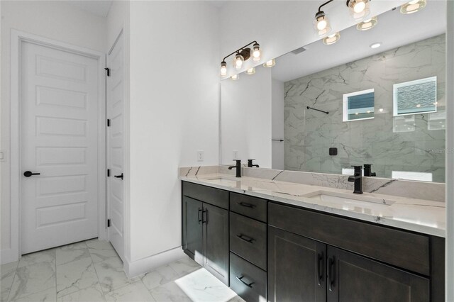
[[[107,200],[109,205],[109,240],[118,255],[124,255],[124,97],[123,97],[123,35],[107,55],[110,76],[107,77]]]

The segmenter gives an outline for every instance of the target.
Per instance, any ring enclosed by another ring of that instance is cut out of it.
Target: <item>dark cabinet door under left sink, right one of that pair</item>
[[[228,286],[228,211],[204,203],[204,267]]]

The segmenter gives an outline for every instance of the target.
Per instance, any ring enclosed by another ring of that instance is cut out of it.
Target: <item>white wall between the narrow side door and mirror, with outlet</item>
[[[133,265],[181,252],[178,167],[218,164],[221,55],[215,6],[133,1],[130,9]],[[197,150],[204,162],[196,161]]]

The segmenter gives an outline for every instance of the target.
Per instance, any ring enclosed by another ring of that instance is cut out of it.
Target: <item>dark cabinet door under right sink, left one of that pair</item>
[[[326,245],[268,227],[268,300],[326,301]]]

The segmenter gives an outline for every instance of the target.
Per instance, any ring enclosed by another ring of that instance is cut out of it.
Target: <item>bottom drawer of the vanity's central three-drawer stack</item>
[[[230,253],[230,287],[245,301],[267,301],[267,273]]]

